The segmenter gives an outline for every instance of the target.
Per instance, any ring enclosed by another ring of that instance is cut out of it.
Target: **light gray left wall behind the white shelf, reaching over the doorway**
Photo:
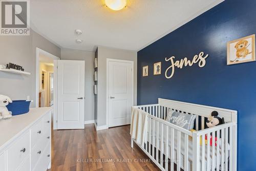
[[[33,30],[30,36],[1,36],[0,38],[0,64],[9,62],[23,66],[31,75],[19,75],[0,72],[0,94],[11,99],[34,100],[31,107],[35,106],[36,84],[36,47],[60,57],[60,48],[40,36]]]

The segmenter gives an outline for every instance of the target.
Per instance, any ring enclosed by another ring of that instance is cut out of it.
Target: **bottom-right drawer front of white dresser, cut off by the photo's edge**
[[[33,171],[46,171],[50,161],[51,161],[50,143],[48,143],[44,153],[42,153]]]

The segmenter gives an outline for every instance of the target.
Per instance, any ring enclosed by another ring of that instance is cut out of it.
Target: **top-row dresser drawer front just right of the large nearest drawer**
[[[41,139],[42,134],[44,134],[43,129],[43,119],[40,119],[33,127],[31,127],[31,149]]]

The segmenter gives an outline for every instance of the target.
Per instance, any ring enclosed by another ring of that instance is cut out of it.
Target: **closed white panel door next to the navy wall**
[[[131,123],[133,61],[109,60],[109,127]]]

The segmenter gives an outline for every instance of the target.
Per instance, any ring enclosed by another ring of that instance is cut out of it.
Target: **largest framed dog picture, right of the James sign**
[[[255,61],[255,34],[227,42],[227,65]]]

